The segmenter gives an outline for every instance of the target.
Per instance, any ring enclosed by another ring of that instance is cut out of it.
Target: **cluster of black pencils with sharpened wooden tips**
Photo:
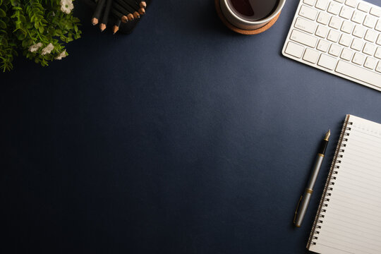
[[[97,25],[103,13],[99,25],[100,30],[103,32],[109,23],[109,16],[114,16],[116,22],[114,23],[112,32],[115,35],[119,30],[121,22],[127,23],[135,18],[140,18],[140,15],[145,14],[146,7],[147,4],[145,1],[140,0],[97,0],[97,6],[95,7],[91,23],[92,25]]]

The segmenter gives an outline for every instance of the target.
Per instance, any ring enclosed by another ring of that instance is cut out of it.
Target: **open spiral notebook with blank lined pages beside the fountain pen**
[[[381,253],[381,124],[346,116],[307,248]]]

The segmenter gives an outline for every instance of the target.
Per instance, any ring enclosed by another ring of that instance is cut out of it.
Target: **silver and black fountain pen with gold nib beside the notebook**
[[[319,174],[320,167],[322,166],[322,161],[324,159],[325,150],[327,149],[330,135],[331,135],[331,130],[325,133],[325,138],[322,140],[322,143],[320,144],[320,147],[319,147],[319,152],[317,153],[316,162],[315,162],[315,165],[313,166],[312,174],[310,176],[310,181],[308,181],[306,191],[304,191],[304,194],[301,195],[301,198],[299,199],[298,207],[296,207],[295,216],[294,216],[294,224],[297,227],[301,226],[304,215],[306,215],[308,203],[310,202],[310,198],[313,193],[313,186],[315,186],[317,174]]]

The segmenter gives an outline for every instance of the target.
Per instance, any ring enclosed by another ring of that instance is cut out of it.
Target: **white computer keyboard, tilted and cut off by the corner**
[[[381,8],[358,0],[301,0],[282,54],[381,91]]]

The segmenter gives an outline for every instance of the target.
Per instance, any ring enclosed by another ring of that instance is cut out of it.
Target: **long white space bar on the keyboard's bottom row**
[[[355,66],[354,64],[339,60],[335,71],[356,80],[362,80],[370,85],[381,87],[381,75],[373,71],[368,71],[360,66]]]

